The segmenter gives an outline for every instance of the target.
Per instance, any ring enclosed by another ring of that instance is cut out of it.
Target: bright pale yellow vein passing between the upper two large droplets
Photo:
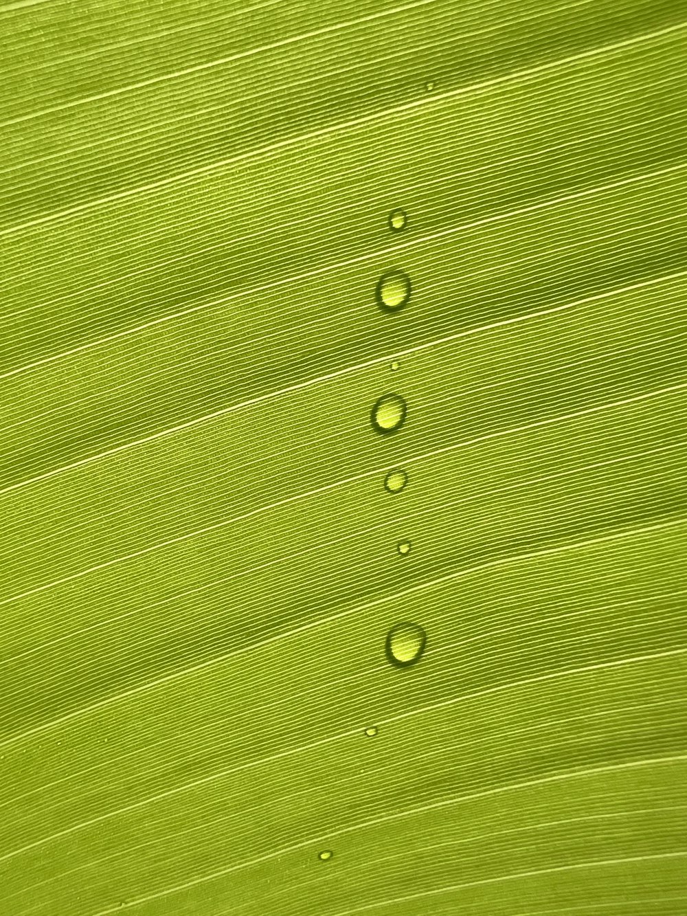
[[[459,340],[463,337],[470,337],[477,333],[483,333],[487,331],[494,331],[498,328],[507,327],[512,324],[518,324],[520,322],[533,321],[538,318],[543,318],[549,315],[554,315],[562,311],[567,311],[581,305],[588,304],[590,302],[602,301],[609,299],[612,296],[620,296],[627,292],[633,292],[637,289],[646,289],[651,286],[655,286],[660,283],[670,282],[673,279],[687,277],[687,270],[677,271],[672,274],[665,274],[662,277],[650,278],[648,280],[641,280],[638,283],[632,283],[626,287],[616,287],[616,289],[605,290],[605,292],[597,293],[594,296],[588,296],[580,300],[574,300],[573,302],[564,302],[561,305],[552,306],[549,309],[541,309],[539,311],[531,311],[525,315],[517,315],[514,318],[503,319],[498,322],[490,322],[489,324],[483,324],[475,328],[469,328],[466,331],[459,331],[453,334],[447,334],[445,337],[440,337],[436,340],[433,340],[429,343],[418,344],[413,347],[409,347],[406,350],[396,351],[394,353],[395,357],[399,356],[408,356],[410,354],[421,353],[422,351],[429,350],[431,347],[440,346],[442,344],[449,344],[455,340]],[[358,365],[345,366],[343,369],[337,369],[334,372],[328,373],[323,376],[316,376],[314,378],[306,379],[303,382],[297,382],[293,385],[289,385],[284,388],[280,388],[278,391],[270,391],[263,395],[258,395],[255,398],[248,398],[245,401],[241,401],[236,404],[232,404],[227,408],[222,408],[219,410],[214,410],[212,413],[205,414],[202,417],[196,417],[193,420],[187,420],[183,423],[178,424],[177,426],[170,427],[167,430],[161,430],[154,432],[149,436],[144,436],[141,439],[136,439],[133,442],[125,442],[122,445],[114,446],[112,449],[107,449],[104,452],[97,453],[94,455],[89,455],[87,458],[82,458],[79,461],[72,462],[70,464],[65,464],[59,468],[53,468],[50,471],[46,471],[43,474],[38,474],[35,477],[29,477],[27,480],[19,481],[16,484],[11,484],[5,486],[4,489],[0,490],[0,496],[3,496],[5,493],[10,493],[13,490],[20,489],[21,487],[38,484],[40,481],[47,480],[49,477],[53,477],[56,474],[63,474],[67,471],[71,471],[74,468],[82,467],[85,464],[90,464],[94,461],[99,461],[103,458],[108,458],[110,455],[124,452],[127,449],[135,448],[138,445],[144,445],[147,442],[154,442],[158,439],[161,439],[164,436],[173,435],[177,432],[191,429],[191,427],[198,426],[201,423],[208,422],[209,420],[214,420],[217,417],[222,417],[225,414],[232,413],[234,410],[241,410],[248,407],[253,407],[256,404],[260,404],[264,401],[272,400],[274,398],[279,398],[284,395],[289,395],[295,391],[300,391],[305,388],[313,387],[315,385],[322,384],[323,382],[331,381],[334,378],[339,378],[342,376],[347,376],[351,373],[360,371],[362,369],[369,368],[374,365],[379,365],[380,363],[387,362],[389,356],[385,354],[384,356],[376,356],[374,359],[366,360],[364,363],[359,363]],[[666,389],[667,390],[667,389]]]

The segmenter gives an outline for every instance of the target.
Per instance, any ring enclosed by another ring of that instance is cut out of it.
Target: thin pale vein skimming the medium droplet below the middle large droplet
[[[540,429],[541,427],[551,426],[554,423],[560,423],[565,420],[573,420],[578,417],[589,416],[594,413],[599,413],[603,410],[613,409],[616,407],[624,407],[627,404],[636,404],[640,401],[649,400],[651,398],[660,398],[661,395],[671,394],[675,391],[682,391],[687,388],[687,382],[682,382],[679,385],[671,385],[668,387],[658,388],[655,391],[643,392],[639,395],[634,395],[630,398],[622,398],[616,401],[608,401],[605,404],[595,404],[594,407],[585,408],[583,410],[576,410],[571,413],[562,414],[558,417],[549,417],[546,420],[537,420],[534,423],[528,423],[522,426],[513,427],[508,430],[497,430],[496,432],[489,432],[483,436],[477,436],[474,439],[467,440],[466,442],[458,443],[457,445],[447,446],[446,451],[453,450],[457,447],[467,447],[470,445],[477,444],[479,442],[489,442],[494,439],[504,438],[507,435],[513,435],[518,432],[525,432],[529,430]],[[427,457],[427,456],[425,456]],[[368,476],[370,472],[366,472],[365,476]],[[225,518],[223,521],[215,522],[213,525],[208,525],[201,529],[194,529],[193,531],[188,531],[185,534],[180,534],[176,538],[169,538],[169,540],[159,541],[157,544],[151,544],[148,547],[141,548],[138,551],[133,551],[132,553],[125,553],[122,556],[114,557],[112,560],[107,560],[103,563],[98,563],[95,566],[90,566],[87,569],[80,570],[78,573],[71,573],[70,575],[63,576],[60,579],[54,579],[52,582],[44,583],[42,585],[37,585],[34,588],[27,589],[25,592],[19,594],[13,594],[9,597],[3,598],[0,601],[0,606],[12,604],[16,601],[20,601],[23,598],[27,598],[32,594],[38,594],[39,592],[45,592],[50,588],[54,588],[57,585],[62,585],[64,583],[73,582],[75,579],[81,579],[83,576],[90,575],[91,573],[98,573],[101,570],[109,569],[112,566],[118,565],[119,563],[128,562],[130,560],[136,560],[138,557],[145,556],[148,553],[153,553],[157,551],[165,550],[168,547],[173,546],[174,544],[179,544],[182,541],[191,540],[192,538],[201,537],[203,534],[208,534],[210,531],[216,531],[218,529],[226,528],[228,525],[233,525],[237,521],[244,521],[246,518],[253,518],[257,515],[262,515],[268,511],[272,511],[275,508],[289,505],[289,503],[299,502],[302,499],[307,499],[311,496],[315,496],[319,493],[324,493],[327,490],[331,490],[334,487],[342,486],[346,483],[352,483],[355,478],[346,478],[344,481],[336,481],[333,484],[326,484],[322,487],[319,487],[315,490],[309,490],[304,493],[296,494],[295,496],[288,496],[285,499],[278,500],[275,503],[269,503],[267,506],[256,507],[251,509],[248,512],[245,512],[241,515],[234,516],[232,518]]]

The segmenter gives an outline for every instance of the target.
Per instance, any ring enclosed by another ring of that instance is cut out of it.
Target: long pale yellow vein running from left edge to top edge
[[[586,5],[591,3],[592,0],[578,0],[578,3],[572,4],[573,6],[577,5]],[[224,64],[232,63],[234,60],[245,60],[245,58],[255,57],[258,54],[264,54],[266,51],[277,50],[279,48],[285,48],[289,45],[297,44],[301,41],[308,41],[311,38],[320,38],[323,35],[330,35],[333,32],[344,31],[346,28],[352,28],[354,26],[363,26],[366,23],[374,22],[376,19],[384,19],[388,16],[395,16],[398,13],[405,13],[409,10],[418,9],[421,6],[428,6],[437,3],[437,0],[415,0],[414,3],[409,3],[401,6],[393,6],[391,9],[379,10],[377,13],[370,13],[367,16],[360,16],[356,19],[349,19],[344,22],[337,22],[332,26],[324,26],[322,28],[313,29],[311,32],[303,32],[300,35],[292,35],[289,38],[281,38],[278,41],[273,41],[268,45],[261,45],[257,48],[247,49],[245,51],[238,51],[236,54],[232,54],[229,57],[220,58],[219,60],[208,60],[205,63],[195,64],[193,67],[187,67],[184,70],[174,71],[172,73],[165,73],[162,76],[154,76],[148,80],[142,80],[141,82],[134,82],[128,86],[119,86],[117,89],[110,89],[105,93],[98,93],[97,95],[87,95],[81,99],[73,99],[71,102],[65,102],[61,105],[53,105],[50,108],[43,108],[37,112],[31,112],[29,114],[21,114],[16,118],[12,118],[10,121],[5,121],[0,123],[0,129],[3,127],[9,127],[11,125],[23,124],[26,121],[33,121],[38,117],[43,117],[46,114],[56,114],[58,112],[67,111],[71,108],[77,108],[81,105],[90,104],[92,102],[101,102],[104,99],[110,99],[115,95],[122,95],[124,93],[133,93],[139,89],[146,89],[147,86],[154,86],[159,82],[169,82],[170,80],[178,80],[180,77],[191,76],[194,73],[201,73],[202,71],[213,70],[215,67],[222,67]],[[541,14],[540,14],[541,15]]]

